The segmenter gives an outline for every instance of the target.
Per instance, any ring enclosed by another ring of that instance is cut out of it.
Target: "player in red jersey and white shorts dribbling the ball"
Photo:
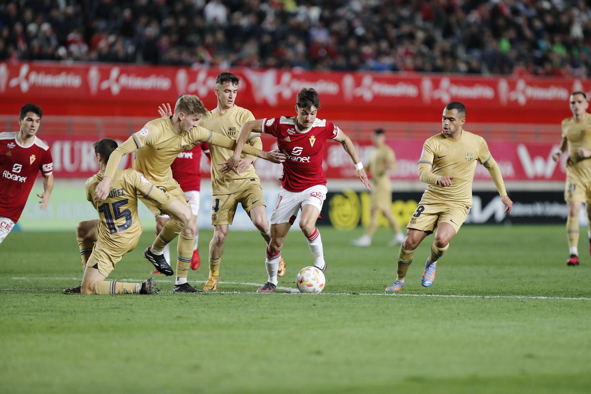
[[[233,156],[222,163],[222,172],[238,168],[241,147],[252,131],[276,137],[278,148],[287,155],[287,160],[283,163],[281,189],[271,214],[271,243],[267,247],[265,259],[269,279],[257,290],[259,293],[269,293],[277,288],[277,267],[281,259],[281,247],[300,209],[300,228],[306,235],[308,246],[314,256],[314,266],[322,272],[326,270],[322,240],[316,228],[316,220],[327,193],[326,176],[322,169],[326,140],[335,140],[342,144],[355,163],[357,177],[366,188],[371,189],[350,138],[332,122],[317,119],[319,109],[318,93],[314,89],[302,89],[297,95],[297,116],[246,122],[238,135]]]

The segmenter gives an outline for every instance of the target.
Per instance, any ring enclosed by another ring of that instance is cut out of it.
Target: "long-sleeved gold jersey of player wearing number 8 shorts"
[[[418,162],[420,179],[430,183],[423,194],[423,200],[472,206],[472,182],[477,161],[491,173],[499,195],[506,195],[501,171],[484,138],[466,130],[462,131],[457,140],[446,137],[444,133],[428,138]],[[452,186],[444,187],[437,183],[443,176],[454,176]]]

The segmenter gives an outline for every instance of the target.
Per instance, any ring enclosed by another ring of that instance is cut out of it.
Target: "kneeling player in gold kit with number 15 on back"
[[[95,207],[100,219],[80,222],[76,227],[76,238],[82,256],[84,276],[82,285],[66,289],[66,293],[83,294],[157,294],[155,280],[143,283],[124,283],[105,280],[115,269],[115,264],[125,253],[134,250],[142,233],[138,218],[138,196],[149,199],[160,209],[166,209],[177,225],[184,227],[184,205],[178,199],[165,193],[133,169],[115,171],[111,191],[102,202],[94,199],[96,185],[105,175],[106,164],[117,143],[103,138],[94,144],[95,158],[99,172],[86,181],[86,199]]]

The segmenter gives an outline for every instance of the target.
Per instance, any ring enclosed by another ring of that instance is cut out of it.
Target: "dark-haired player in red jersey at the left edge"
[[[45,210],[53,189],[53,159],[49,146],[35,136],[41,125],[41,107],[25,104],[18,124],[21,130],[0,133],[0,243],[21,217],[37,172],[43,174],[41,209]]]

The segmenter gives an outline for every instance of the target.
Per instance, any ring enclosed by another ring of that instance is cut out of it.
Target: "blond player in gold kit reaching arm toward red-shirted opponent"
[[[113,151],[105,169],[105,177],[95,189],[96,201],[103,201],[109,194],[109,190],[111,190],[113,175],[115,175],[121,157],[137,150],[133,168],[142,172],[158,188],[183,202],[185,208],[179,218],[166,210],[161,210],[141,196],[139,197],[154,216],[164,212],[174,219],[180,219],[182,223],[182,225],[178,225],[177,220],[168,221],[160,234],[157,235],[154,243],[144,251],[144,257],[158,271],[170,276],[174,272],[163,256],[164,247],[180,234],[177,245],[177,276],[174,282],[174,292],[197,292],[193,286],[187,283],[187,273],[193,256],[196,224],[190,220],[191,208],[189,202],[187,202],[183,190],[174,180],[170,164],[178,153],[190,150],[200,142],[226,148],[233,148],[236,144],[236,141],[231,138],[213,133],[199,126],[199,121],[206,113],[207,109],[204,108],[203,103],[197,96],[181,96],[174,106],[174,115],[148,122],[141,130],[132,134],[127,141]],[[281,163],[284,157],[283,154],[277,151],[269,153],[251,146],[244,147],[244,151],[247,154],[262,157],[274,163]]]

